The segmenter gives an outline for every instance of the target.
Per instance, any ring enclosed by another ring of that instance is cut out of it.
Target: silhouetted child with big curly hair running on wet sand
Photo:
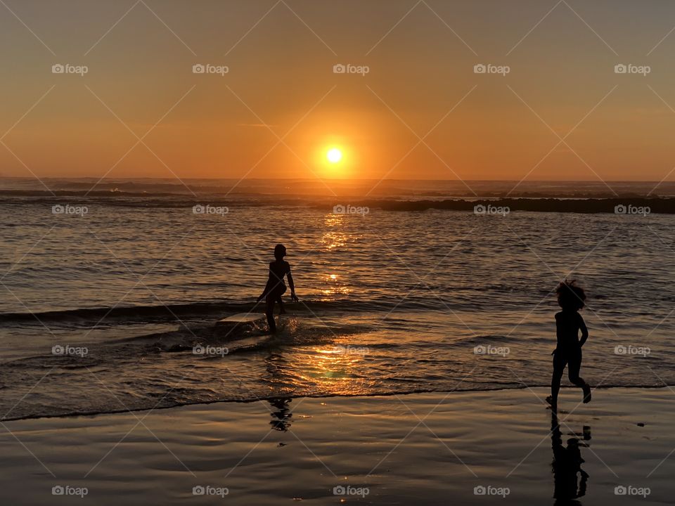
[[[558,294],[558,304],[563,311],[555,315],[558,346],[553,351],[553,377],[551,378],[551,395],[546,398],[551,408],[558,408],[558,391],[560,378],[563,377],[565,365],[570,382],[584,389],[584,403],[591,401],[591,387],[579,376],[581,369],[581,346],[589,338],[584,318],[581,318],[579,309],[584,307],[586,294],[574,281],[563,281],[555,290]],[[581,330],[581,339],[579,339]]]

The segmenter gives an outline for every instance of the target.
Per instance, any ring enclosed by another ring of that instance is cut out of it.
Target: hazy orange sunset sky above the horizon
[[[675,180],[672,1],[4,4],[0,175]]]

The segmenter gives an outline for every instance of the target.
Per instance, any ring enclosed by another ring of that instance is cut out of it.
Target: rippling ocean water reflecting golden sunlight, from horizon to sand
[[[563,278],[589,295],[582,377],[675,384],[675,216],[613,212],[655,183],[610,183],[616,195],[603,183],[527,182],[509,195],[607,200],[585,213],[490,210],[515,185],[503,181],[385,181],[370,193],[255,180],[90,191],[95,182],[0,179],[4,420],[546,386]],[[673,190],[660,186],[659,198]],[[488,210],[401,205],[459,198]],[[264,311],[256,297],[277,242],[300,297],[286,293],[281,332],[215,327]]]

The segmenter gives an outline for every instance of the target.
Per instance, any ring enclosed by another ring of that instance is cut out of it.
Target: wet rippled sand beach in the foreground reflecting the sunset
[[[546,394],[293,398],[15,420],[4,423],[1,502],[553,504]],[[564,445],[580,441],[584,505],[670,503],[675,393],[597,389],[580,401],[563,389],[558,420]]]

